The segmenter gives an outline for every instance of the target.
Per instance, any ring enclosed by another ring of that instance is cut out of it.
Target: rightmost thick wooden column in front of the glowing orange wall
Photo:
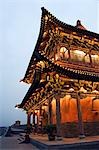
[[[78,112],[79,138],[85,138],[79,92],[77,92],[77,112]]]

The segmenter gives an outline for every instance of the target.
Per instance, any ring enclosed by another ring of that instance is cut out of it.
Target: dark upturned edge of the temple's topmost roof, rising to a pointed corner
[[[38,39],[37,39],[37,42],[36,42],[36,45],[35,45],[35,48],[34,48],[34,51],[33,51],[33,54],[30,58],[30,62],[28,64],[28,67],[27,67],[27,70],[26,70],[26,73],[25,73],[25,76],[24,78],[22,79],[23,82],[26,82],[27,83],[27,79],[30,78],[30,76],[32,76],[32,73],[30,74],[29,73],[29,70],[31,68],[32,65],[34,65],[34,59],[36,59],[36,62],[38,62],[39,60],[41,60],[41,56],[38,55],[38,49],[39,49],[39,46],[40,46],[40,43],[42,41],[42,36],[43,36],[43,33],[44,33],[44,27],[46,26],[46,16],[49,17],[49,19],[51,19],[53,21],[53,23],[59,25],[61,28],[63,28],[64,30],[70,30],[72,32],[77,32],[78,34],[82,34],[82,35],[87,35],[89,37],[92,37],[92,38],[96,38],[96,40],[99,41],[99,34],[96,34],[94,32],[91,32],[91,31],[88,31],[88,30],[83,30],[83,29],[80,29],[80,28],[77,28],[75,26],[72,26],[72,25],[68,25],[60,20],[58,20],[55,16],[53,16],[47,9],[45,9],[44,7],[41,8],[42,9],[42,14],[41,14],[41,25],[40,25],[40,31],[39,31],[39,36],[38,36]],[[29,75],[30,76],[29,76]],[[26,79],[26,80],[25,80]],[[31,83],[31,81],[29,82]]]

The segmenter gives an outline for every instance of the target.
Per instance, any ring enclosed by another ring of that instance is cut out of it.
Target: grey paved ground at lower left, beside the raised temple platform
[[[19,135],[0,138],[0,150],[39,150],[30,143],[21,143],[19,139]]]

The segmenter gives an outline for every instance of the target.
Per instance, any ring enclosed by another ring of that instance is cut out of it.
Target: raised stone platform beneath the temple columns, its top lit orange
[[[99,136],[89,136],[83,139],[63,138],[61,141],[48,141],[47,135],[30,135],[33,144],[49,147],[54,150],[99,150]]]

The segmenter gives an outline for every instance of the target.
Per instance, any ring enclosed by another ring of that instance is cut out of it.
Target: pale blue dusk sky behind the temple
[[[16,110],[30,85],[19,82],[25,74],[37,42],[41,7],[59,20],[82,24],[99,33],[98,0],[1,0],[0,1],[0,126],[16,120],[26,123],[26,114]]]

